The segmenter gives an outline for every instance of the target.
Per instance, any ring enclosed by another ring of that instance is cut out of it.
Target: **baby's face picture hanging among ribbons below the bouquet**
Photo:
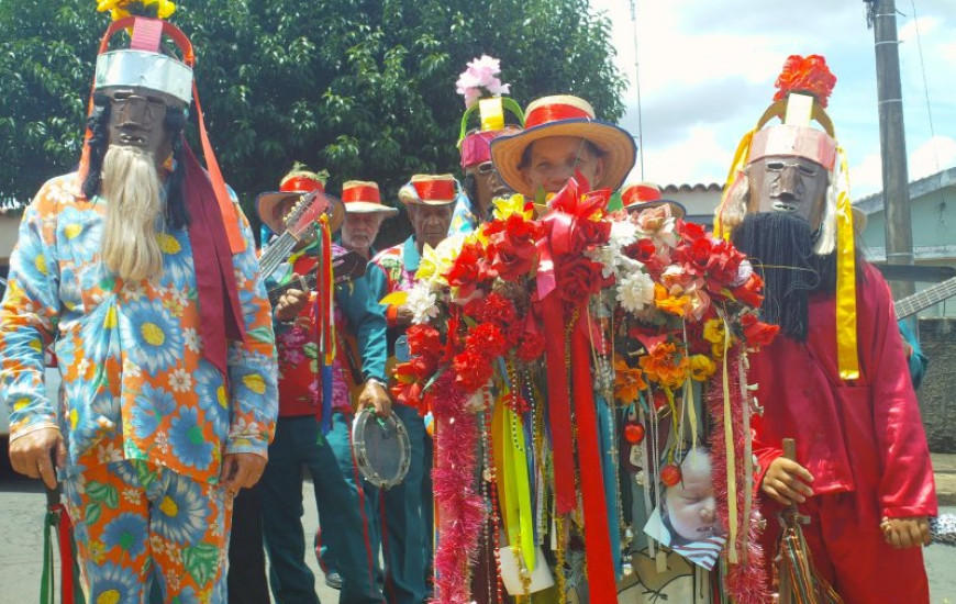
[[[702,455],[702,454],[697,454]],[[681,465],[681,482],[668,486],[666,499],[670,526],[683,539],[700,541],[718,532],[716,500],[713,494],[710,463],[688,463],[691,454]]]

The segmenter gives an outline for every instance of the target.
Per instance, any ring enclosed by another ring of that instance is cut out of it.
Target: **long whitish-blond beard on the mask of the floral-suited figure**
[[[163,273],[156,219],[163,210],[159,175],[153,155],[110,145],[103,157],[102,197],[107,201],[102,259],[124,281]]]

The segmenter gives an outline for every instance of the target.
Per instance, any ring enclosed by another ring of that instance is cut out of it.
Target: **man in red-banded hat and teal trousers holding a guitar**
[[[285,231],[282,220],[303,193],[324,192],[323,178],[314,172],[293,170],[278,192],[264,193],[256,202],[263,224],[276,235]],[[332,206],[329,231],[342,224],[342,202],[326,195]],[[319,266],[321,242],[304,239],[289,260],[291,275],[309,275]],[[333,246],[333,256],[341,248]],[[279,284],[294,282],[280,279]],[[269,446],[269,462],[260,483],[263,534],[269,553],[269,573],[275,599],[287,604],[319,604],[312,571],[305,564],[302,530],[302,466],[309,468],[315,491],[315,504],[322,523],[323,540],[333,547],[341,577],[340,601],[380,603],[381,593],[374,584],[373,558],[366,548],[360,499],[354,481],[340,469],[333,441],[347,434],[352,414],[349,383],[360,391],[357,404],[375,406],[389,413],[390,399],[385,390],[386,325],[377,298],[368,295],[364,279],[355,279],[335,289],[336,329],[352,331],[358,340],[362,359],[359,376],[351,376],[348,362],[341,358],[329,370],[319,369],[323,360],[318,351],[319,333],[315,297],[323,292],[288,289],[279,299],[276,333],[279,355],[279,420],[276,439]],[[307,303],[311,300],[312,303]],[[336,426],[338,437],[336,438]],[[351,455],[349,455],[351,460]],[[348,474],[351,478],[351,473]]]

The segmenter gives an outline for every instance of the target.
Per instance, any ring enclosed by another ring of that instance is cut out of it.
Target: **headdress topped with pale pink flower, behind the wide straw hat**
[[[499,59],[481,55],[468,63],[468,68],[455,82],[458,93],[465,97],[467,108],[462,116],[462,133],[458,136],[463,168],[490,161],[491,141],[521,132],[524,114],[513,99],[502,97],[511,91],[511,85],[501,83],[498,79],[500,71]],[[518,119],[518,124],[505,123],[505,110]],[[468,121],[476,114],[480,119],[480,127],[468,130]]]

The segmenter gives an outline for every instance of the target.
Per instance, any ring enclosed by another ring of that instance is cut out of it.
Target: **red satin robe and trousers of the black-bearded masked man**
[[[751,356],[764,406],[754,422],[756,484],[782,455],[781,439],[796,438],[797,461],[814,477],[814,496],[800,507],[811,516],[804,536],[818,571],[847,604],[929,602],[921,548],[893,549],[879,528],[883,516],[935,516],[936,493],[889,287],[872,266],[861,271],[858,380],[840,379],[832,295],[811,297],[807,343],[780,336]],[[769,569],[779,505],[762,496]]]

